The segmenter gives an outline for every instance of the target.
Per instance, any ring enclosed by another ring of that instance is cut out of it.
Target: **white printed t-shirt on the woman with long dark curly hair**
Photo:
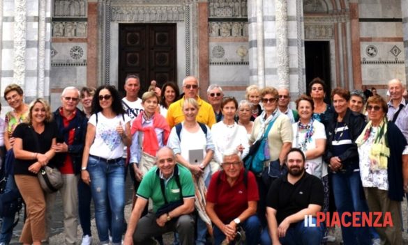
[[[116,127],[122,124],[123,130],[125,125],[130,121],[130,118],[125,115],[124,120],[122,115],[114,118],[105,118],[103,113],[98,112],[98,123],[96,123],[96,115],[93,114],[89,118],[88,123],[96,127],[95,141],[93,141],[89,154],[106,159],[116,159],[123,155],[123,141],[121,136],[116,132]]]

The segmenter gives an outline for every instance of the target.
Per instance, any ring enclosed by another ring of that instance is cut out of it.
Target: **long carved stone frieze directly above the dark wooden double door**
[[[184,6],[112,6],[112,22],[184,22]]]

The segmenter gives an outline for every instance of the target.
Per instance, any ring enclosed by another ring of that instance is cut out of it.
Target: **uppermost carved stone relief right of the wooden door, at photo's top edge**
[[[248,17],[246,0],[209,0],[209,17]]]

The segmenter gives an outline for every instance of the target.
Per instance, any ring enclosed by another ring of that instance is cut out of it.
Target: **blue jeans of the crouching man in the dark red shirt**
[[[259,237],[261,236],[262,226],[261,221],[259,221],[258,216],[256,214],[250,216],[248,219],[243,221],[240,226],[245,231],[246,244],[259,243]],[[222,241],[224,241],[225,239],[224,233],[217,226],[214,226],[213,235],[215,245],[221,244]]]

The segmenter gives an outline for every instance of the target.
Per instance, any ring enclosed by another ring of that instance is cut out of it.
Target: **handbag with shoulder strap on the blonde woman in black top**
[[[40,151],[40,147],[38,146],[38,136],[36,132],[34,132],[33,127],[29,127],[31,129],[31,133],[33,134],[34,141],[36,141],[36,148],[37,152]],[[43,191],[47,193],[54,193],[61,189],[63,186],[63,180],[61,172],[58,168],[52,168],[50,166],[42,166],[40,171],[37,173],[38,181],[40,182],[40,186]]]

